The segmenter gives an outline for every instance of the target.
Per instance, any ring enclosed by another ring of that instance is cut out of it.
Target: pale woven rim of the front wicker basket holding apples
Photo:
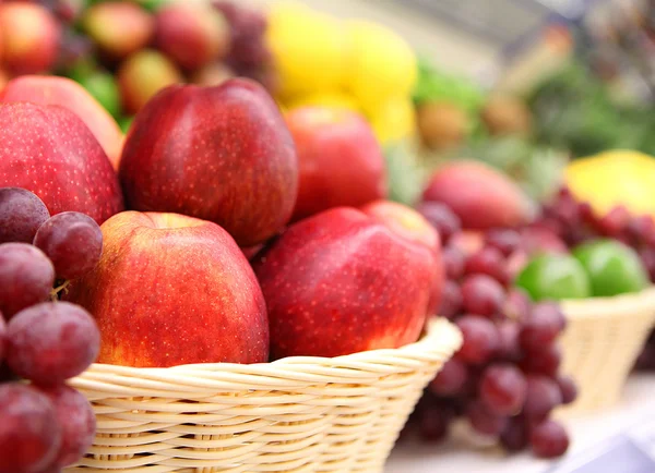
[[[132,367],[121,365],[110,365],[104,363],[94,363],[87,372],[80,375],[75,379],[84,378],[90,373],[93,373],[94,378],[118,376],[160,376],[163,374],[175,374],[176,377],[194,377],[200,373],[206,376],[207,373],[234,373],[246,375],[265,376],[267,374],[275,375],[281,372],[301,373],[302,367],[350,367],[366,364],[389,364],[393,365],[396,361],[405,359],[417,362],[432,361],[441,357],[444,353],[453,353],[462,345],[462,333],[457,327],[443,317],[430,317],[426,324],[426,330],[421,338],[414,343],[400,347],[397,349],[377,349],[352,353],[347,355],[324,357],[324,356],[287,356],[273,362],[239,364],[239,363],[199,363],[184,364],[170,367]],[[402,368],[403,364],[400,363]],[[409,366],[405,366],[407,368]],[[105,376],[104,376],[105,375]]]

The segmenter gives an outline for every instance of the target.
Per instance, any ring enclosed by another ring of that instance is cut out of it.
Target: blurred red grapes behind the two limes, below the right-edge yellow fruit
[[[612,238],[635,250],[655,282],[655,220],[650,215],[634,216],[617,206],[604,216],[596,215],[588,203],[577,201],[567,187],[544,206],[533,227],[546,229],[569,246],[598,237]],[[638,361],[640,369],[655,371],[655,331]]]

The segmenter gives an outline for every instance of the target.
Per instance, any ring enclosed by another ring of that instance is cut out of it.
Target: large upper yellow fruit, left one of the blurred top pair
[[[341,21],[301,3],[277,3],[269,14],[266,41],[282,98],[342,88],[347,38]]]

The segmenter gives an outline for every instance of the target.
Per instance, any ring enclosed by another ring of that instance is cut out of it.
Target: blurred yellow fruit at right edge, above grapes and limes
[[[609,150],[577,159],[564,170],[573,195],[598,215],[617,205],[636,215],[655,217],[655,158],[632,150]]]

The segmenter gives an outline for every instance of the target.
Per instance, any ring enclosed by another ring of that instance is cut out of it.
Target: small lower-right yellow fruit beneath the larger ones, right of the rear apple
[[[398,142],[416,133],[416,112],[409,97],[393,97],[369,114],[373,132],[381,144]]]

